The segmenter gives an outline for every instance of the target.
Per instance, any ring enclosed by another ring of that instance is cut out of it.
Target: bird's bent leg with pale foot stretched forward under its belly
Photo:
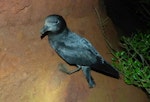
[[[64,64],[62,64],[62,63],[59,64],[59,70],[62,71],[62,72],[64,72],[64,73],[66,73],[66,74],[73,74],[73,73],[79,71],[80,69],[81,69],[81,67],[78,66],[77,69],[69,71]]]

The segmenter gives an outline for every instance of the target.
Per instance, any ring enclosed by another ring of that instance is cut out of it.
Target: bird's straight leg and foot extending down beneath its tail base
[[[83,73],[84,73],[84,75],[86,77],[86,80],[89,83],[89,87],[93,88],[95,86],[95,82],[94,82],[94,80],[93,80],[93,78],[91,76],[91,73],[90,73],[91,68],[89,66],[82,66],[82,71],[83,71]]]

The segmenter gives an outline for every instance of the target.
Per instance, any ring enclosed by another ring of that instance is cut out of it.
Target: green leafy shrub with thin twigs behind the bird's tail
[[[127,84],[144,88],[150,94],[150,33],[122,37],[123,51],[113,52],[113,65]]]

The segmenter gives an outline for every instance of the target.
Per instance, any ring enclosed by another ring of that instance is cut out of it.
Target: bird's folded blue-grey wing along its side
[[[57,45],[56,52],[69,64],[90,66],[102,58],[88,40],[76,34],[60,40]]]

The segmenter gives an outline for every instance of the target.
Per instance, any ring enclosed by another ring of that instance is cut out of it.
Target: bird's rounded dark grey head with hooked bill
[[[45,24],[41,29],[41,39],[47,34],[59,34],[66,28],[66,22],[60,15],[49,15],[45,19]]]

